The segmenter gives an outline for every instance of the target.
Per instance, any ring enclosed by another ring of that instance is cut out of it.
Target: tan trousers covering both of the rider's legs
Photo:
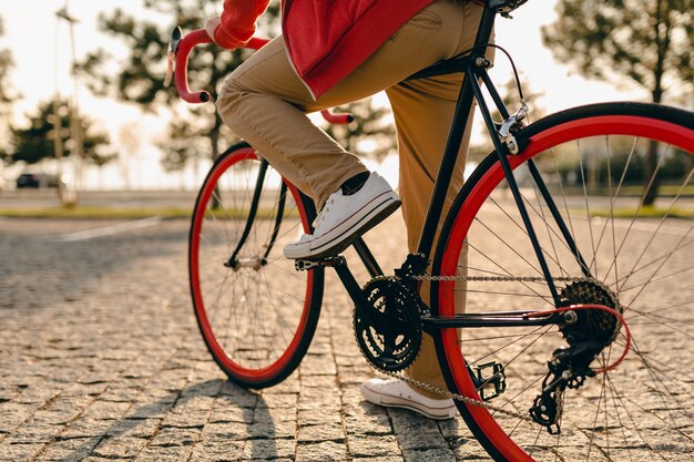
[[[312,100],[308,91],[294,74],[286,58],[284,43],[282,39],[276,39],[239,66],[226,81],[220,94],[220,113],[234,132],[254,145],[289,181],[314,197],[320,207],[340,182],[364,172],[365,168],[356,156],[346,153],[323,131],[315,127],[304,116],[304,112],[340,105],[398,85],[412,73],[455,55],[462,51],[468,42],[471,44],[470,38],[474,37],[478,23],[479,14],[470,9],[469,3],[461,6],[450,0],[438,0],[412,18],[359,69],[318,101]],[[441,78],[440,83],[431,79],[425,85],[432,85],[435,94],[441,89],[450,90],[453,85],[452,82],[446,83],[445,78]],[[400,96],[398,95],[400,91],[402,90],[394,90],[390,95],[396,105],[405,104],[402,107],[396,107],[400,119],[399,130],[402,131],[399,141],[401,148],[405,150],[402,168],[408,170],[402,178],[405,183],[414,184],[411,187],[401,184],[401,187],[405,187],[405,195],[409,202],[405,212],[409,240],[416,242],[414,233],[418,235],[420,229],[422,211],[428,204],[426,197],[430,193],[431,178],[438,168],[442,144],[431,147],[429,142],[422,142],[420,146],[414,137],[419,135],[437,137],[438,132],[433,130],[446,124],[441,114],[435,110],[422,117],[427,119],[426,125],[431,127],[431,131],[423,129],[423,125],[417,129],[415,125],[418,122],[412,117],[420,117],[422,114],[408,111],[407,107],[416,107],[416,104],[408,105],[407,92]],[[423,95],[428,91],[425,88],[418,89]],[[445,93],[443,100],[449,97],[448,93]],[[441,96],[425,97],[421,101],[436,99]],[[450,102],[443,105],[449,104]],[[446,133],[442,133],[440,143],[445,140]],[[426,160],[429,155],[436,158],[435,162]],[[420,161],[423,164],[418,170],[417,164]],[[408,178],[410,175],[411,178]],[[419,184],[426,187],[427,183],[429,189],[421,189],[419,194],[415,194]],[[431,346],[427,345],[422,356],[426,358],[431,351]],[[425,362],[436,365],[436,359]],[[438,368],[436,370],[438,372]]]

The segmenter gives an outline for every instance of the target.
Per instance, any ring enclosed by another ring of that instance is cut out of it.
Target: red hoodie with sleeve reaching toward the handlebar
[[[318,99],[433,0],[283,0],[282,28],[294,69]],[[243,47],[269,0],[224,0],[215,41]]]

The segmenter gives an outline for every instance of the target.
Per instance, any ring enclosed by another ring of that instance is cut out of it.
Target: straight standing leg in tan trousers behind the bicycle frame
[[[465,51],[472,47],[482,12],[482,9],[473,3],[466,3],[461,8],[465,10],[465,23],[458,51]],[[410,253],[417,250],[461,82],[461,74],[450,74],[421,81],[404,82],[387,91],[394,109],[398,132],[398,152],[400,154],[399,193],[402,198],[402,215],[407,225]],[[471,121],[472,113],[468,120],[458,156],[458,164],[453,171],[439,226],[442,225],[442,220],[448,214],[457,193],[462,187]],[[467,246],[463,248],[466,250],[460,257],[462,267],[467,265]],[[457,283],[456,294],[456,309],[463,311],[465,281]],[[420,296],[425,302],[429,302],[429,285],[426,281],[420,287]],[[446,389],[433,341],[428,335],[425,335],[421,352],[415,363],[408,369],[407,374],[418,381]],[[417,391],[429,398],[441,398],[419,388],[417,388]]]

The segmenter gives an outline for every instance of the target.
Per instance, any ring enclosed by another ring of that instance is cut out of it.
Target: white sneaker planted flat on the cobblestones
[[[374,404],[409,409],[429,419],[452,419],[458,413],[453,400],[425,397],[409,388],[402,380],[367,380],[361,383],[361,394]]]

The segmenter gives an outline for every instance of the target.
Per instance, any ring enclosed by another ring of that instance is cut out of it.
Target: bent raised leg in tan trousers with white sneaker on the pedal
[[[371,85],[356,81],[338,97],[372,93],[378,88]],[[388,182],[306,117],[324,104],[313,102],[294,74],[282,38],[239,66],[218,100],[224,122],[316,202],[315,228],[284,247],[287,258],[336,255],[400,206]]]

